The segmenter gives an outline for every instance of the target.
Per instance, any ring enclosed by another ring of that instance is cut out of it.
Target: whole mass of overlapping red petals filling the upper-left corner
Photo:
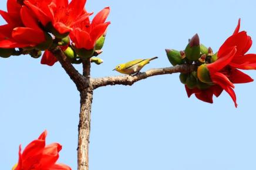
[[[90,23],[92,13],[86,12],[85,4],[86,0],[8,0],[8,11],[0,11],[7,22],[0,26],[0,48],[25,48],[29,53],[48,42],[48,32],[53,34],[52,39],[70,34],[76,48],[93,49],[110,23],[105,23],[109,8],[100,11]],[[60,47],[65,50],[68,46]],[[46,49],[41,64],[53,65],[57,61]]]

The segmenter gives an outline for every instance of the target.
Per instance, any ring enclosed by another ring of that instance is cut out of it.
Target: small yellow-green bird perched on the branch
[[[149,61],[154,60],[158,57],[147,58],[147,59],[137,59],[133,61],[129,61],[127,63],[119,64],[114,68],[114,70],[122,73],[122,74],[137,74],[142,70],[146,64],[149,64]]]

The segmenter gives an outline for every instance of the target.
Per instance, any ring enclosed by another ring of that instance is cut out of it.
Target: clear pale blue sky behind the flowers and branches
[[[110,6],[104,63],[92,77],[119,75],[114,66],[158,56],[143,68],[169,67],[164,49],[183,50],[195,33],[214,51],[241,29],[256,40],[255,1],[87,0],[87,11]],[[6,0],[0,2],[6,10]],[[0,20],[1,25],[5,22]],[[255,44],[251,53],[256,53]],[[77,65],[79,71],[81,66]],[[245,71],[256,78],[255,71]],[[59,162],[76,169],[79,93],[59,64],[41,65],[26,55],[0,58],[0,165],[11,169],[23,148],[48,130],[46,142],[63,145]],[[256,169],[255,82],[235,86],[214,104],[187,98],[178,74],[133,86],[96,89],[92,105],[90,169]]]

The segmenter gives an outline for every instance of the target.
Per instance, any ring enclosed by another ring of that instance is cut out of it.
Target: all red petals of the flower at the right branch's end
[[[245,54],[252,45],[251,37],[245,31],[239,32],[239,30],[240,19],[233,35],[228,37],[218,50],[217,60],[206,65],[211,81],[215,85],[205,90],[188,89],[186,87],[188,97],[195,93],[198,99],[213,103],[213,95],[218,97],[224,89],[233,99],[235,107],[237,107],[234,84],[253,81],[249,75],[238,69],[256,69],[256,54]]]

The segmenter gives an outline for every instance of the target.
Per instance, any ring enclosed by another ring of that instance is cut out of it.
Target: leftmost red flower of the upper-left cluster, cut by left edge
[[[0,11],[7,24],[0,26],[0,47],[35,47],[46,41],[45,33],[26,6],[8,0],[8,12]]]

